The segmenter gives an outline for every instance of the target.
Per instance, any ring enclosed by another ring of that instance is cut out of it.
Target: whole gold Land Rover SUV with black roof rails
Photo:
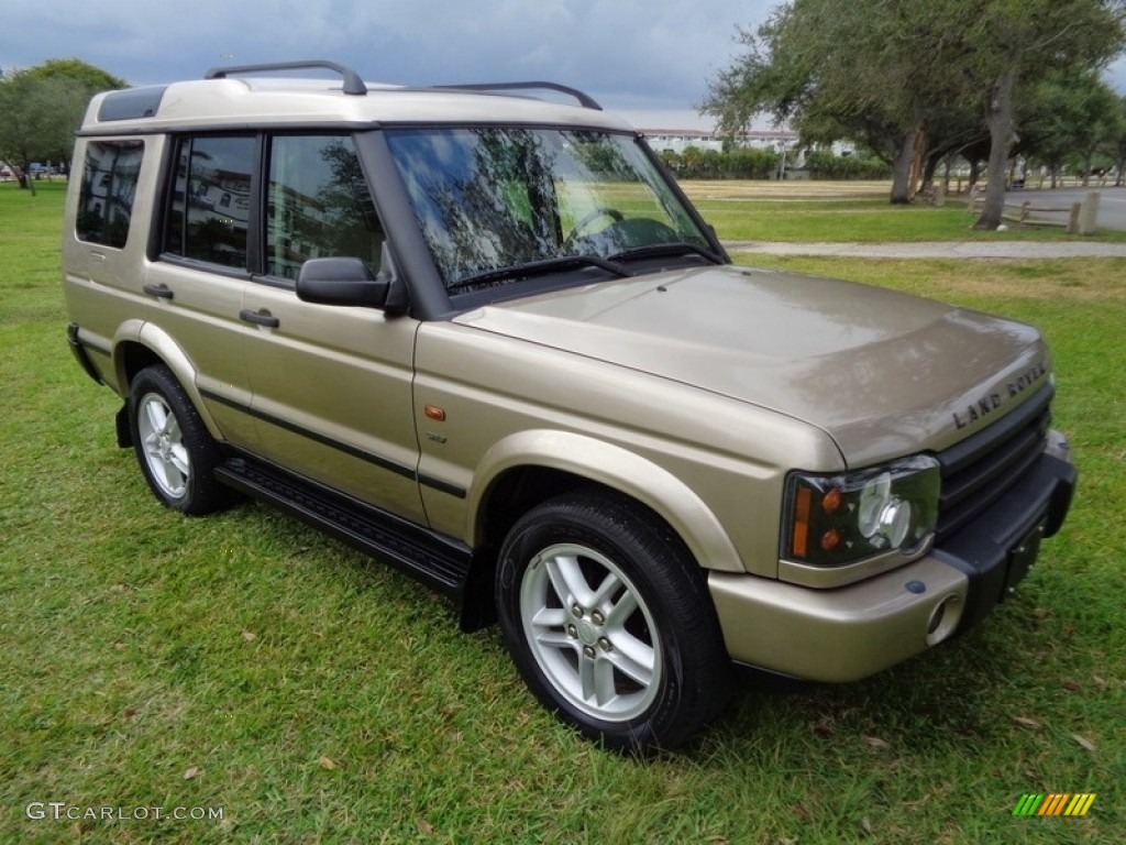
[[[270,75],[307,66],[341,81]],[[63,257],[161,502],[269,500],[499,620],[614,748],[686,740],[734,666],[849,681],[967,630],[1074,486],[1035,329],[733,267],[561,86],[98,95]]]

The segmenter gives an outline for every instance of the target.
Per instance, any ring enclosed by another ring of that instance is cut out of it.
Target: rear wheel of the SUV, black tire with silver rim
[[[141,471],[161,504],[189,516],[230,506],[233,491],[215,480],[215,442],[167,366],[145,367],[133,379],[129,432]]]

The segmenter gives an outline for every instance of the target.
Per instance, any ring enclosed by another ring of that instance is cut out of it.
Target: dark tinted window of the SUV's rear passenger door
[[[250,135],[180,139],[164,225],[166,252],[247,266],[254,149]]]

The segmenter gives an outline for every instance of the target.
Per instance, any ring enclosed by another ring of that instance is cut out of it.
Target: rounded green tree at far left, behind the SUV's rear
[[[0,159],[35,190],[33,161],[65,161],[90,97],[127,83],[78,59],[56,59],[0,79]]]

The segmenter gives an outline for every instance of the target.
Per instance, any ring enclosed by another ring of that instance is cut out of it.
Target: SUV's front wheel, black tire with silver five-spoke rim
[[[704,576],[652,512],[591,490],[524,515],[497,605],[539,701],[617,750],[683,744],[726,703],[731,667]]]

